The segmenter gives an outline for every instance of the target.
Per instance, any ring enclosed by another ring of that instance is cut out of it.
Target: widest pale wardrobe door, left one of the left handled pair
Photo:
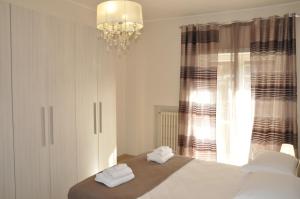
[[[17,199],[50,197],[45,18],[12,6],[12,87]]]

